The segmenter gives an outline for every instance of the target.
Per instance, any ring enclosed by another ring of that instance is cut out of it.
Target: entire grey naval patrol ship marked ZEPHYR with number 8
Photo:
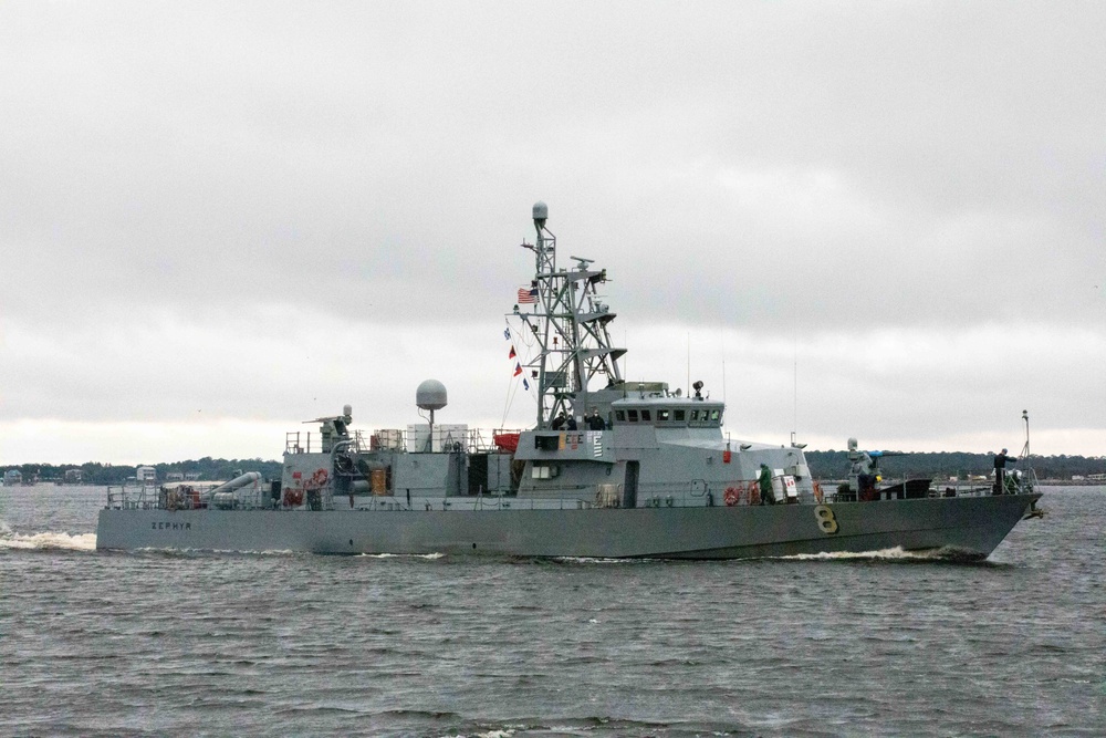
[[[536,423],[484,434],[435,424],[436,381],[416,391],[428,423],[353,430],[352,410],[291,433],[282,477],[244,474],[108,489],[97,549],[738,559],[901,549],[985,558],[1039,514],[1032,475],[992,488],[876,485],[879,453],[849,439],[846,484],[822,489],[803,446],[731,439],[722,402],[697,382],[623,378],[599,288],[606,270],[557,263],[547,208],[533,208],[535,274],[509,322],[533,357],[517,372]],[[1026,419],[1027,424],[1027,419]],[[1027,455],[1027,444],[1026,444]]]

